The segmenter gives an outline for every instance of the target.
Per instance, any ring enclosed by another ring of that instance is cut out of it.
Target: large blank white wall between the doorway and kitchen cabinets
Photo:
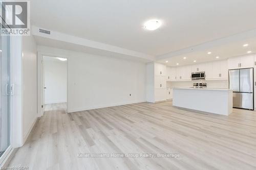
[[[145,102],[145,63],[46,46],[37,49],[41,56],[68,58],[68,112]]]

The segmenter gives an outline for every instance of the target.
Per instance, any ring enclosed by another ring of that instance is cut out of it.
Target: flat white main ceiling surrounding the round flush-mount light
[[[31,19],[34,26],[158,56],[256,29],[255,7],[255,0],[33,0]],[[144,30],[152,18],[162,27]]]

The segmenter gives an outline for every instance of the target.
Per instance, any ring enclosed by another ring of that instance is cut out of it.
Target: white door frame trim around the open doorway
[[[37,117],[44,115],[44,91],[43,91],[43,82],[42,79],[44,77],[44,70],[42,70],[42,62],[44,61],[44,56],[48,57],[59,57],[67,59],[67,112],[69,110],[69,57],[66,55],[45,53],[45,52],[37,52]]]

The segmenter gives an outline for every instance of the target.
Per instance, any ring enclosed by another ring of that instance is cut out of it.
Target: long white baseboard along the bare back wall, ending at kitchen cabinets
[[[112,106],[120,106],[120,105],[129,105],[129,104],[142,103],[142,102],[146,102],[146,100],[133,101],[133,102],[124,102],[124,103],[115,103],[115,104],[110,104],[110,105],[98,105],[98,106],[92,106],[92,107],[73,108],[73,109],[69,109],[69,110],[68,110],[68,113],[78,112],[78,111],[84,111],[84,110],[91,110],[91,109],[99,109],[99,108],[104,108],[104,107],[112,107]]]

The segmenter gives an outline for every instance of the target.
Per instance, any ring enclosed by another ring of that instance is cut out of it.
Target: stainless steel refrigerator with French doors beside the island
[[[253,110],[253,68],[228,70],[233,107]]]

